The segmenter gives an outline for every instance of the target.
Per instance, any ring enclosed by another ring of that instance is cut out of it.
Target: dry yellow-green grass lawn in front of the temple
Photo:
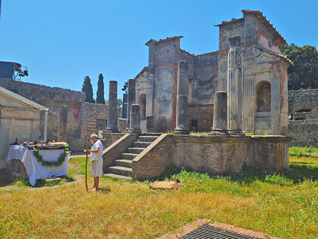
[[[171,168],[179,190],[149,190],[150,181],[102,177],[86,193],[85,178],[58,187],[0,189],[0,238],[156,238],[208,218],[282,238],[318,238],[318,158],[290,156],[292,176],[211,179]],[[71,159],[69,178],[85,174]],[[89,185],[93,177],[88,178]]]

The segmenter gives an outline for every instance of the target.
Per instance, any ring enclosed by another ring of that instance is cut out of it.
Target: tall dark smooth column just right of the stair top
[[[189,95],[189,75],[188,62],[178,62],[178,84],[177,84],[177,111],[175,134],[190,134],[188,128],[188,95]]]

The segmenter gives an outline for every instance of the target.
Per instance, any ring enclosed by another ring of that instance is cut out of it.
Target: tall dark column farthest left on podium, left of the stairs
[[[117,81],[109,81],[108,116],[105,133],[118,133],[117,128]]]

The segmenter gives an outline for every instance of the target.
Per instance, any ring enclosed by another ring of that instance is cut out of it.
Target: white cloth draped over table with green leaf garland
[[[39,153],[43,155],[45,161],[58,161],[61,154],[64,153],[64,149],[54,149],[54,150],[39,150]],[[28,147],[20,145],[10,145],[9,154],[7,161],[10,164],[11,159],[20,159],[24,164],[26,172],[30,178],[30,184],[33,186],[36,183],[36,179],[51,177],[51,176],[62,176],[67,175],[67,165],[71,158],[70,151],[67,154],[65,161],[59,167],[44,167],[41,162],[38,162],[37,158],[34,156],[33,151]]]

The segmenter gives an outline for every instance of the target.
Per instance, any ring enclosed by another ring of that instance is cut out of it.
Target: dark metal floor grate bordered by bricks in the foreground
[[[256,237],[242,235],[221,228],[203,225],[180,239],[254,239]]]

